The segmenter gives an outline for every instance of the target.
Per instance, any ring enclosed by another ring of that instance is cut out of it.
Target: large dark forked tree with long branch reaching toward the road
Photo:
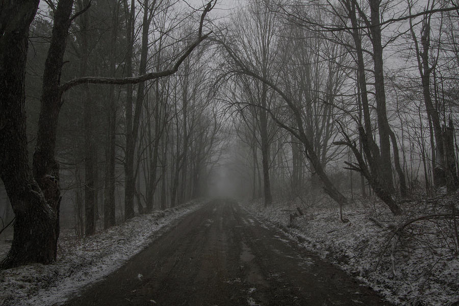
[[[215,4],[214,4],[215,5]],[[27,38],[30,23],[38,8],[37,1],[7,4],[2,10],[2,181],[16,214],[14,239],[3,267],[28,262],[53,263],[56,260],[59,237],[59,165],[55,161],[55,146],[62,94],[78,84],[135,84],[173,74],[192,50],[209,36],[202,34],[203,21],[212,9],[210,2],[200,18],[197,39],[186,49],[171,69],[158,73],[146,73],[134,78],[83,77],[60,85],[63,56],[68,29],[74,18],[71,15],[73,0],[60,0],[54,11],[53,34],[43,74],[41,112],[37,145],[34,153],[33,176],[28,165],[27,140],[25,139],[24,112],[24,64],[27,56]],[[11,18],[14,16],[14,18]],[[12,52],[15,50],[15,52]],[[35,180],[34,178],[35,177]],[[34,228],[32,231],[31,228]]]

